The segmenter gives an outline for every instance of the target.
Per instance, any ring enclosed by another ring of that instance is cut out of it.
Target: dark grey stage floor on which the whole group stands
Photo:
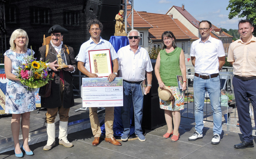
[[[89,117],[89,112],[78,111],[77,108],[82,107],[82,99],[76,98],[76,106],[70,109],[70,121],[77,121]],[[38,109],[37,109],[38,110]],[[46,109],[31,112],[30,132],[45,129]],[[2,116],[1,118],[1,139],[12,137],[10,129],[11,116]],[[57,123],[59,118],[56,118]],[[91,129],[81,130],[68,134],[68,140],[73,143],[73,147],[67,148],[59,145],[50,151],[44,151],[43,147],[47,141],[42,141],[30,145],[30,149],[34,152],[33,156],[25,154],[24,158],[189,158],[189,159],[216,159],[216,158],[255,158],[256,146],[246,149],[235,149],[234,144],[242,141],[242,134],[222,131],[220,144],[211,144],[213,132],[211,128],[203,129],[203,138],[196,141],[188,141],[188,138],[193,135],[195,128],[193,119],[181,118],[179,127],[180,139],[177,142],[171,142],[171,139],[163,139],[163,134],[167,131],[167,126],[162,126],[154,130],[146,130],[146,141],[131,140],[121,142],[122,146],[114,146],[104,141],[101,137],[98,146],[92,146],[94,139]],[[56,124],[57,125],[57,124]],[[256,139],[256,138],[255,138]],[[254,143],[255,140],[254,139]],[[56,138],[58,141],[58,138]],[[17,158],[14,150],[0,154],[0,158],[12,159]]]

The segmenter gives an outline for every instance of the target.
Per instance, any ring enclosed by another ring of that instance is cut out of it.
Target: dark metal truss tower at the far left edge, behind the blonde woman
[[[4,26],[5,29],[5,4],[0,1],[0,24]],[[1,32],[1,45],[0,45],[0,63],[4,63],[4,53],[6,51],[6,35]]]

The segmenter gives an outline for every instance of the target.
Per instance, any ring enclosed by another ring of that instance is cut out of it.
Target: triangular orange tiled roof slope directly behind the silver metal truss
[[[128,3],[128,2],[127,2]],[[127,9],[131,9],[131,5],[127,5]],[[127,11],[127,15],[131,13],[131,10]],[[132,26],[132,14],[127,18],[127,22]],[[152,28],[153,26],[150,25],[146,20],[144,20],[137,12],[133,9],[133,28]],[[127,25],[127,28],[129,26]]]

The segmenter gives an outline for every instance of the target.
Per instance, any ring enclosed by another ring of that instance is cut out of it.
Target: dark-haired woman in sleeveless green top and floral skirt
[[[186,81],[183,81],[182,89],[178,88],[177,75],[182,75],[186,79],[185,55],[181,48],[178,48],[176,38],[171,31],[162,34],[163,49],[158,53],[155,65],[155,74],[159,87],[164,89],[169,87],[175,97],[174,105],[172,101],[160,100],[160,108],[164,109],[167,123],[167,133],[163,138],[172,136],[172,141],[179,139],[180,110],[184,109],[184,90],[187,89]],[[172,127],[172,120],[174,128]]]

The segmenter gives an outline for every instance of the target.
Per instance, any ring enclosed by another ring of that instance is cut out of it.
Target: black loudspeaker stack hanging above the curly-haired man
[[[93,1],[99,1],[99,0],[93,0]],[[103,3],[104,2],[104,3]],[[95,3],[92,1],[86,2],[86,7],[84,6],[85,10],[83,9],[83,13],[85,13],[87,16],[91,17],[92,19],[98,19],[99,21],[115,21],[116,14],[119,13],[120,5],[113,6],[109,5],[113,4],[116,1],[108,1],[108,5],[106,4],[106,1],[100,1],[99,3]],[[120,3],[120,2],[119,2]]]

